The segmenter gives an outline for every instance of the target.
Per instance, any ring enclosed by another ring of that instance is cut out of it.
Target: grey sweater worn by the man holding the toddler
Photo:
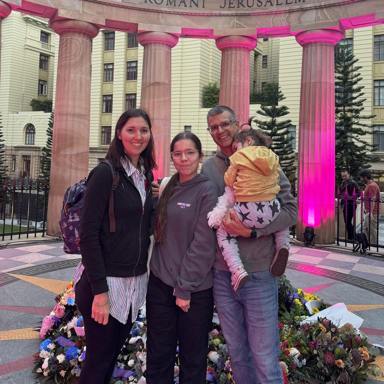
[[[216,156],[224,160],[227,167],[229,166],[229,157],[223,154],[221,150],[217,151]],[[214,182],[219,195],[224,193],[224,176],[217,168],[213,158],[208,158],[203,162],[201,173]],[[239,237],[237,239],[240,258],[248,273],[269,269],[276,252],[272,233],[287,228],[298,220],[296,201],[290,193],[290,183],[282,171],[279,185],[280,192],[277,194],[277,199],[280,202],[281,210],[277,218],[264,228],[257,229],[257,238]],[[216,258],[213,267],[229,270],[218,246],[216,246]]]

